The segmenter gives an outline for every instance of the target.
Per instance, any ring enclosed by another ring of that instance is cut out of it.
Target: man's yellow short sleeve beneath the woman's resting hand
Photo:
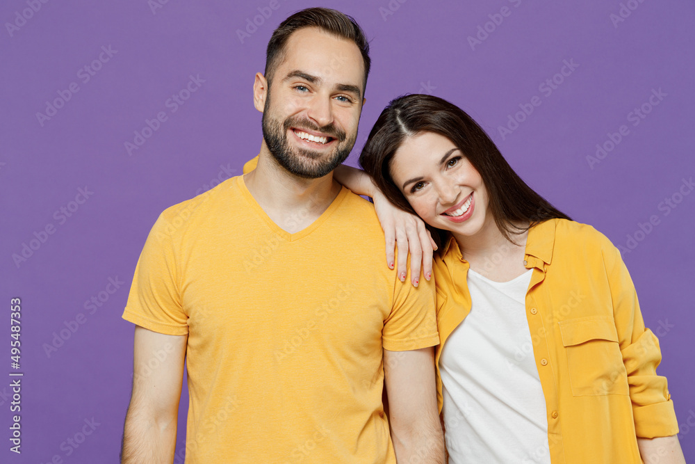
[[[420,285],[414,287],[409,269],[405,282],[394,280],[391,314],[384,321],[382,331],[384,349],[409,351],[439,344],[434,276],[430,281],[421,280]]]

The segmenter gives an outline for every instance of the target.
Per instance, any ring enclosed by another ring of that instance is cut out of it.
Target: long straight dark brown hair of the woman
[[[416,214],[391,178],[391,160],[406,137],[434,132],[448,138],[480,173],[489,195],[489,208],[502,235],[512,241],[526,227],[551,218],[569,216],[550,205],[519,177],[495,143],[465,111],[432,95],[405,95],[389,103],[377,119],[359,155],[359,163],[391,202]],[[430,227],[441,246],[447,232]]]

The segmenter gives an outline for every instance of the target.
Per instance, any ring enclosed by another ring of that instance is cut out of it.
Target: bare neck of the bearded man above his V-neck
[[[287,232],[298,232],[325,211],[341,191],[333,173],[306,179],[289,173],[261,146],[255,170],[244,175],[247,189],[265,214]]]

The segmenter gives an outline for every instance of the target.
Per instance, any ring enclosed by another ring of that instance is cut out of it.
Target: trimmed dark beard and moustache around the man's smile
[[[347,138],[345,131],[338,129],[333,123],[319,127],[313,122],[297,117],[290,117],[280,122],[270,115],[270,94],[265,100],[261,126],[263,127],[263,140],[272,157],[288,172],[306,179],[323,177],[338,167],[352,151],[357,132]],[[332,153],[325,154],[306,148],[293,149],[287,141],[287,131],[290,127],[317,131],[336,139],[336,146]]]

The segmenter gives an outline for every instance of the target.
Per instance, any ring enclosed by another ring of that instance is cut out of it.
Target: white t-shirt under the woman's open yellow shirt
[[[525,314],[531,273],[493,282],[468,270],[471,314],[439,359],[450,463],[550,464],[546,403]]]

